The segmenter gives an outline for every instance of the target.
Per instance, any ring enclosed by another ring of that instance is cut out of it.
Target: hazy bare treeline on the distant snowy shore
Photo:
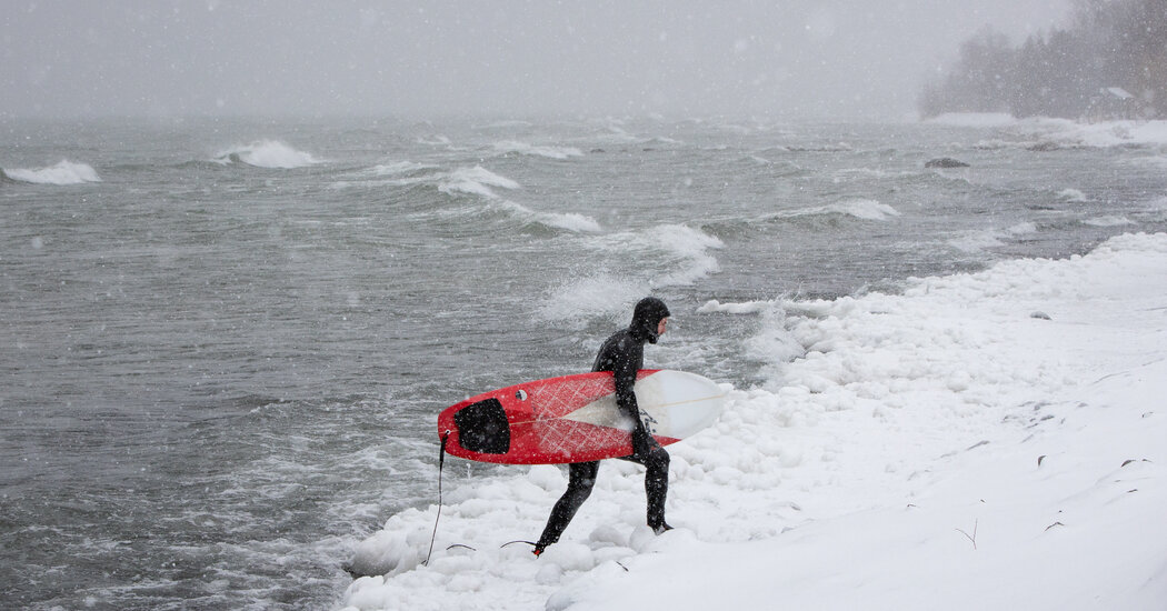
[[[918,106],[924,117],[1167,118],[1167,0],[1076,0],[1067,29],[1021,47],[986,27],[924,85]]]

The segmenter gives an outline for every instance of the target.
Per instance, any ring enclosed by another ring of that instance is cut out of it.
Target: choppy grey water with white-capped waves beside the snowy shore
[[[327,608],[356,542],[436,500],[442,407],[585,371],[648,293],[677,323],[652,365],[781,382],[755,340],[778,323],[697,310],[1163,231],[1167,145],[1128,136],[2,124],[0,583],[30,609]]]

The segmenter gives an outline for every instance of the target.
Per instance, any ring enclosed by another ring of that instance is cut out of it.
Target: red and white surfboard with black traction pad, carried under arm
[[[641,370],[636,402],[662,445],[712,424],[726,392],[713,380],[671,370]],[[612,372],[579,373],[498,388],[438,415],[438,436],[453,456],[485,463],[562,464],[633,454],[634,423],[616,407]]]

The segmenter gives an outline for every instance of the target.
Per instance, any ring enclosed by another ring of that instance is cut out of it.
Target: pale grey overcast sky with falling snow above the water
[[[0,117],[903,117],[1068,0],[6,0]]]

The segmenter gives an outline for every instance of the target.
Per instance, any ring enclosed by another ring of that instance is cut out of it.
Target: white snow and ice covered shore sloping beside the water
[[[516,466],[447,490],[428,567],[436,506],[391,518],[354,559],[384,576],[343,604],[1167,609],[1167,234],[701,311],[762,317],[773,382],[670,447],[676,531],[642,526],[642,471],[609,461],[559,545],[499,548],[566,486]]]

